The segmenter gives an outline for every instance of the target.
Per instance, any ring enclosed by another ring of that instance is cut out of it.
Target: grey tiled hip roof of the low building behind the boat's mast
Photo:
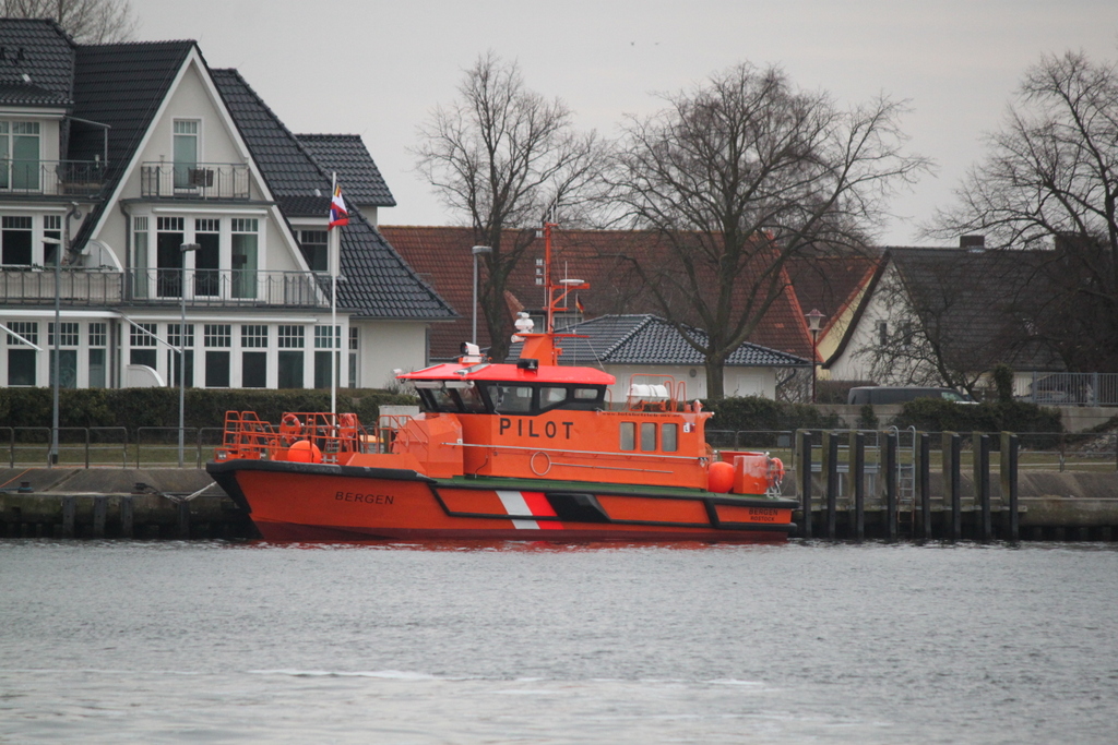
[[[672,324],[654,315],[607,315],[562,329],[585,338],[560,341],[562,364],[702,365],[703,356]],[[697,341],[705,334],[692,329]],[[513,350],[511,356],[520,353]],[[789,367],[811,364],[803,357],[746,342],[726,361],[733,367]]]

